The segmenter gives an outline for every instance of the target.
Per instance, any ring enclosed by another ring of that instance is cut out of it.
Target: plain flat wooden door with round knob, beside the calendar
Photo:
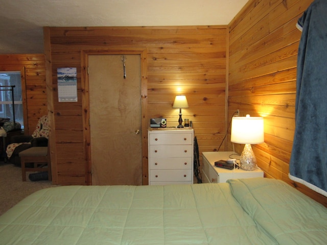
[[[89,55],[92,185],[141,185],[141,57]]]

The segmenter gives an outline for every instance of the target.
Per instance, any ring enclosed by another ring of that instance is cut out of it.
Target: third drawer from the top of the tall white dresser
[[[149,160],[150,169],[192,169],[192,164],[192,157],[153,157]]]

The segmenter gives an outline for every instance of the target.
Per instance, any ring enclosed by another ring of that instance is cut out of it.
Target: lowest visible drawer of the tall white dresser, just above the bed
[[[150,181],[192,181],[192,169],[150,170]]]

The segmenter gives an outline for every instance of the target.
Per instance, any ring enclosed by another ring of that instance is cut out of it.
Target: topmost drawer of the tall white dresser
[[[150,134],[149,144],[192,144],[193,137],[190,133],[178,133],[178,134]]]

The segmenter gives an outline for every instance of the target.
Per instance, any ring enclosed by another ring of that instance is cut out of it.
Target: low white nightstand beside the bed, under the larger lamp
[[[226,169],[216,167],[215,161],[227,160],[234,152],[202,152],[202,170],[203,170],[203,183],[222,183],[228,179],[244,179],[254,177],[264,177],[264,172],[260,168],[255,168],[252,171],[243,169]]]

